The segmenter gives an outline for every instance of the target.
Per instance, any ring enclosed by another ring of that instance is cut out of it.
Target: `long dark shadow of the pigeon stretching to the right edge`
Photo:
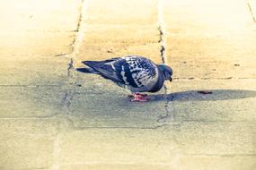
[[[190,90],[174,92],[171,94],[152,95],[151,101],[172,100],[172,101],[216,101],[216,100],[232,100],[240,98],[255,98],[256,91],[246,89],[207,89],[204,90]]]

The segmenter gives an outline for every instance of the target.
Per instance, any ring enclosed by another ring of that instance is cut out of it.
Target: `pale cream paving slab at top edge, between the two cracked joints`
[[[157,22],[156,0],[90,0],[86,3],[89,24],[145,25]]]

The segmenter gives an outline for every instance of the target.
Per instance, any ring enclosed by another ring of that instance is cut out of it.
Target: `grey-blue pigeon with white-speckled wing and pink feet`
[[[76,68],[78,72],[99,74],[114,81],[132,92],[131,101],[148,101],[142,92],[156,92],[162,89],[163,82],[172,81],[172,68],[166,64],[154,64],[150,59],[139,55],[126,55],[104,61],[83,61],[88,67]]]

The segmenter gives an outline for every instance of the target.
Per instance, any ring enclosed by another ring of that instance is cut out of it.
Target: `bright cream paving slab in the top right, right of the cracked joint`
[[[254,25],[243,0],[163,0],[162,6],[166,30],[171,34],[230,34],[252,30]]]

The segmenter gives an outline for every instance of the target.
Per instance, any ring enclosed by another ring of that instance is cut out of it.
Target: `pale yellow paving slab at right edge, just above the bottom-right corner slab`
[[[181,154],[255,157],[255,122],[183,122],[170,130]]]

